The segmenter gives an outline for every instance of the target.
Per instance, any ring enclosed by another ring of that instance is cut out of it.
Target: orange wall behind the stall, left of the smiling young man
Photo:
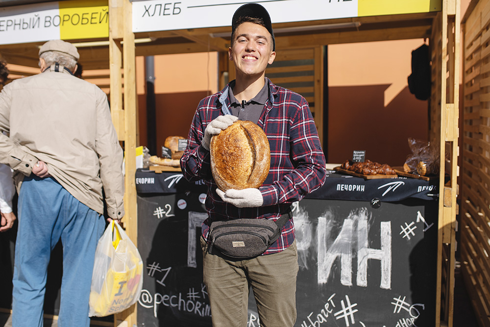
[[[187,137],[199,101],[218,92],[218,55],[183,53],[154,56],[156,149],[167,136]],[[147,110],[144,57],[136,58],[139,145],[147,145]]]

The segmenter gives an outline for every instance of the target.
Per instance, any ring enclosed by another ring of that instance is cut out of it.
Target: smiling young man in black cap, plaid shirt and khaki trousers
[[[274,85],[265,70],[275,58],[275,40],[267,10],[247,3],[232,19],[229,58],[236,80],[200,101],[180,165],[192,181],[208,185],[202,225],[203,276],[214,327],[244,327],[251,287],[262,327],[293,327],[298,271],[292,216],[267,250],[251,258],[231,258],[210,250],[213,222],[243,218],[277,221],[291,204],[325,180],[325,157],[308,102]],[[270,169],[259,188],[220,190],[211,170],[211,137],[237,120],[257,124],[267,135]],[[282,221],[282,220],[281,220]],[[240,243],[240,242],[238,242]]]

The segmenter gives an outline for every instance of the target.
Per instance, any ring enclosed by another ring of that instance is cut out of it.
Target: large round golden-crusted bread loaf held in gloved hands
[[[211,172],[222,191],[259,188],[269,174],[266,133],[250,121],[237,121],[211,138]]]

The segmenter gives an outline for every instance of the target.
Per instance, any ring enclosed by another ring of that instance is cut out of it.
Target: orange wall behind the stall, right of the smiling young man
[[[401,166],[408,137],[427,140],[428,102],[408,90],[411,52],[422,39],[328,46],[330,163],[366,150],[366,158]]]

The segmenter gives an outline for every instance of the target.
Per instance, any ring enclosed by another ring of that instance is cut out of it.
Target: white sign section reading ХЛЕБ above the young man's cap
[[[133,32],[231,26],[235,11],[248,2],[262,4],[273,24],[358,15],[358,0],[133,1]]]

